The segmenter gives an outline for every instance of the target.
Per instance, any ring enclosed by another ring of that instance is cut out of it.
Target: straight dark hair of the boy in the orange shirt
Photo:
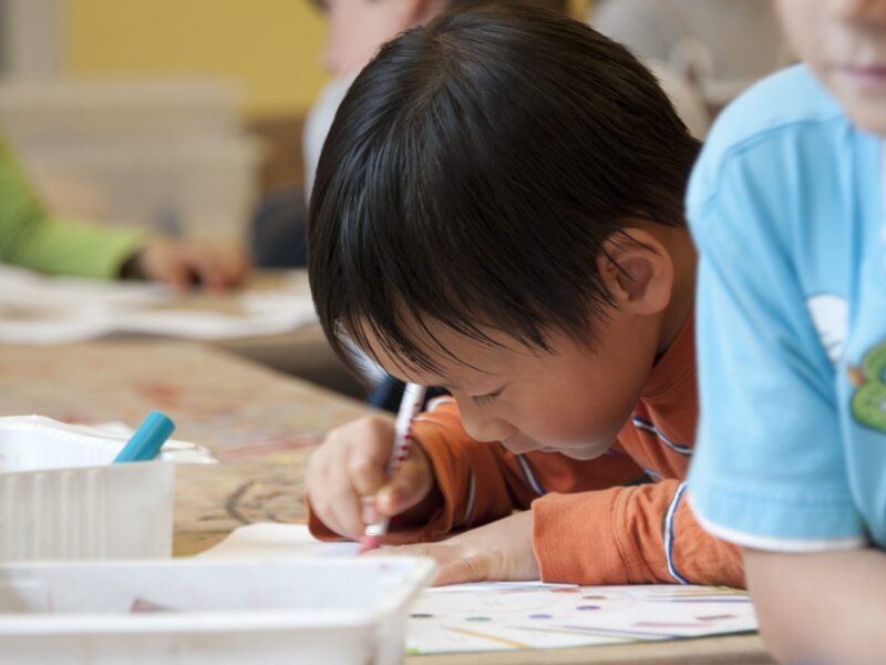
[[[439,17],[382,47],[317,170],[311,290],[346,360],[367,332],[437,369],[426,324],[548,349],[591,341],[596,258],[628,219],[683,221],[698,143],[656,79],[587,25],[521,6]]]

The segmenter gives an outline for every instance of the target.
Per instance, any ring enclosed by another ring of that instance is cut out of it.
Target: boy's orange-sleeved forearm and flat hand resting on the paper
[[[399,554],[431,556],[436,583],[535,580],[576,584],[698,583],[743,586],[733,545],[705,533],[686,485],[549,494],[523,512]],[[391,553],[387,551],[385,553]]]

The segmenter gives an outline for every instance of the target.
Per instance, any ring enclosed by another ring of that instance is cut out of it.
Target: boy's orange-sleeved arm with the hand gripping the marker
[[[390,424],[384,433],[375,431],[381,421],[373,422],[365,422],[359,431],[354,428],[360,423],[353,423],[341,428],[340,436],[333,432],[309,463],[308,490],[312,497],[309,524],[319,538],[332,538],[337,533],[354,538],[361,532],[356,493],[378,491],[390,453]],[[391,514],[410,508],[405,519],[395,519],[391,524],[392,540],[398,542],[433,540],[454,530],[493,522],[514,510],[529,508],[535,499],[548,491],[579,492],[645,478],[639,467],[619,452],[597,460],[577,461],[543,452],[516,456],[498,443],[475,441],[462,428],[457,407],[452,401],[419,416],[413,431],[418,439],[416,459],[408,460],[389,485],[395,485],[396,493],[406,499]],[[343,450],[348,446],[340,439],[346,434],[346,438],[359,440],[359,454],[356,450]],[[387,446],[373,441],[383,441]],[[370,448],[378,449],[380,461],[374,471],[367,472],[365,467],[372,466],[371,462],[357,462],[358,458],[369,454]],[[339,449],[338,453],[336,449]],[[420,460],[430,464],[433,488],[424,481]],[[363,470],[356,472],[354,466]],[[423,501],[418,511],[413,508],[418,498],[406,487],[410,483],[400,478],[404,473],[416,479],[421,485],[420,493],[431,499]],[[359,488],[362,492],[354,491]],[[383,494],[389,493],[385,491]],[[323,516],[329,523],[323,523]]]

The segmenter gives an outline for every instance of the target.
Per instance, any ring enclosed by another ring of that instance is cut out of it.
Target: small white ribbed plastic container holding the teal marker
[[[125,442],[0,418],[0,561],[168,557],[175,463],[111,464]]]

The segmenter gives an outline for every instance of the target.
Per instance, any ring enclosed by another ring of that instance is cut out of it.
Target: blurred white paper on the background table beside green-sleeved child
[[[225,310],[200,309],[154,284],[48,277],[0,266],[0,341],[65,344],[115,332],[186,339],[277,335],[315,323],[306,294],[286,287],[231,296]]]

